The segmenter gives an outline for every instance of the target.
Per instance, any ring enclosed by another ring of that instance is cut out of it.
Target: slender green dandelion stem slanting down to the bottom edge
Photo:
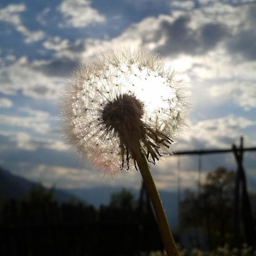
[[[140,146],[137,147],[136,162],[140,169],[141,176],[145,183],[148,195],[155,209],[155,216],[158,228],[162,236],[162,241],[168,256],[179,256],[179,251],[175,245],[169,224],[162,206],[159,193],[155,187],[155,182],[148,168],[148,162],[143,154],[141,154]]]

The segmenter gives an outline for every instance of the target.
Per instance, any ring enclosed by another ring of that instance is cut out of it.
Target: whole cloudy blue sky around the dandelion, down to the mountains
[[[0,166],[58,188],[139,188],[138,172],[111,178],[77,156],[58,118],[75,65],[122,46],[161,54],[189,91],[175,151],[231,148],[240,136],[256,147],[255,24],[255,0],[1,0]],[[232,154],[201,161],[202,176],[236,169]],[[244,167],[256,189],[255,151]],[[198,156],[162,157],[151,169],[159,189],[177,189],[178,171],[182,187],[195,186]]]

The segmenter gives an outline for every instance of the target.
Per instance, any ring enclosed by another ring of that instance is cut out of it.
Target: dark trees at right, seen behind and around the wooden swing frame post
[[[210,172],[204,182],[200,184],[200,192],[191,189],[184,192],[180,202],[179,226],[180,231],[190,232],[192,247],[206,247],[215,249],[226,243],[233,247],[240,247],[243,243],[256,246],[256,237],[247,234],[247,228],[243,221],[243,207],[240,205],[238,223],[234,223],[236,209],[236,173],[225,168],[217,168]],[[242,196],[242,195],[240,195]],[[250,194],[254,204],[252,228],[256,226],[256,195]],[[236,225],[241,227],[239,241],[236,237]],[[247,224],[247,223],[246,223]],[[234,243],[234,241],[236,241]]]

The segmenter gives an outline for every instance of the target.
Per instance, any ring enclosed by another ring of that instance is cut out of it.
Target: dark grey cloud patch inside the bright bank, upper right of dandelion
[[[163,55],[203,54],[228,35],[223,24],[207,23],[197,29],[189,26],[190,18],[182,16],[173,23],[163,20],[161,23],[162,36],[166,37],[164,45],[157,48]],[[155,39],[159,39],[159,35]]]

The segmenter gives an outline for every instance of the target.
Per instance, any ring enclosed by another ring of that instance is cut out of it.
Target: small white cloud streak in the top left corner
[[[26,11],[26,6],[22,4],[9,4],[0,9],[0,20],[12,24],[15,29],[25,36],[26,43],[32,43],[42,40],[45,33],[41,30],[30,31],[22,24],[20,13]]]

